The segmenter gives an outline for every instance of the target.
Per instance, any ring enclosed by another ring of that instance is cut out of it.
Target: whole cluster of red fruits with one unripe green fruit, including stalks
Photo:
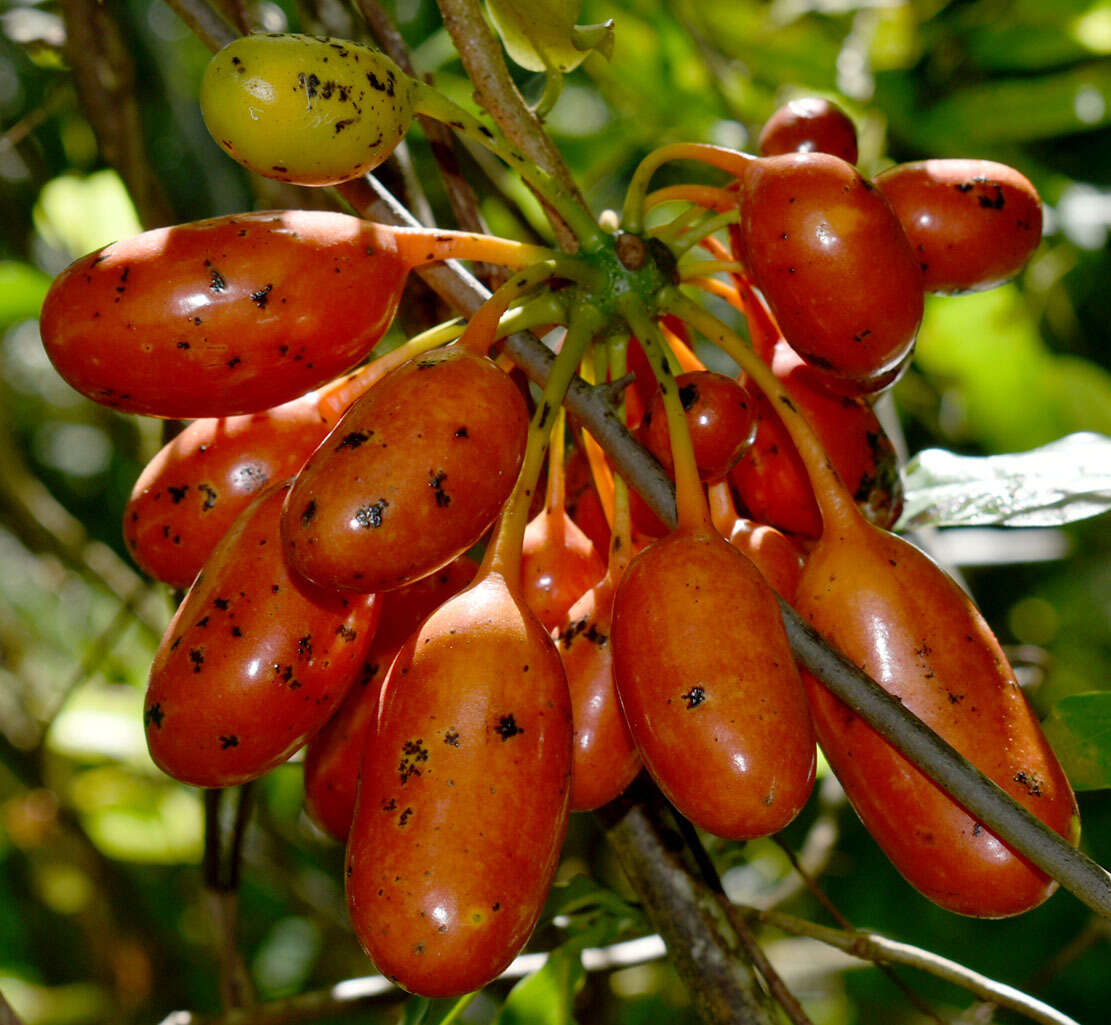
[[[239,40],[201,101],[229,153],[302,184],[359,175],[413,111],[438,117],[506,157],[581,248],[277,211],[147,232],[59,275],[41,323],[63,376],[117,409],[192,420],[123,524],[137,562],[188,589],[146,701],[160,767],[229,786],[304,746],[306,805],[347,843],[358,936],[426,995],[477,988],[519,952],[569,811],[644,768],[699,827],[767,835],[805,803],[815,740],[922,893],[983,916],[1049,895],[800,672],[779,605],[1075,841],[1073,795],[998,642],[890,533],[899,472],[872,409],[911,359],[927,292],[990,288],[1024,264],[1041,223],[1030,182],[963,160],[869,180],[851,121],[799,101],[758,155],[653,153],[611,234],[352,43]],[[680,159],[729,182],[648,192]],[[410,270],[448,258],[513,273],[466,326],[373,359]],[[748,340],[691,290],[731,303]],[[551,324],[562,346],[533,398],[498,340]],[[739,379],[705,370],[694,333]],[[618,412],[673,475],[677,529],[565,423],[577,371],[625,385]]]

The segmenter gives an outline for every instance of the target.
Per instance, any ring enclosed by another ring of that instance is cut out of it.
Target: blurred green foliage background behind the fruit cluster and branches
[[[249,179],[208,138],[196,104],[207,51],[161,0],[104,6],[134,64],[146,160],[176,218],[316,201]],[[268,30],[358,31],[337,0],[248,7]],[[390,9],[418,69],[471,103],[432,0]],[[1107,0],[585,0],[578,22],[609,19],[610,59],[590,53],[569,73],[548,121],[594,210],[620,205],[623,183],[654,147],[751,147],[772,111],[801,93],[831,97],[853,115],[865,172],[929,155],[1011,163],[1047,201],[1045,241],[1013,285],[929,301],[919,358],[891,409],[910,452],[988,455],[1071,432],[1111,433]],[[50,275],[133,232],[146,215],[98,148],[64,39],[63,8],[52,0],[0,8],[0,992],[28,1025],[120,1025],[174,1008],[216,1011],[218,942],[198,871],[200,795],[154,770],[140,728],[146,671],[171,595],[129,564],[119,522],[159,425],[70,391],[46,361],[34,321]],[[530,100],[541,97],[542,73],[513,73]],[[433,211],[450,224],[419,132],[408,151]],[[462,163],[493,230],[546,232],[531,199],[484,155],[467,151]],[[683,165],[668,168],[660,183],[692,174],[713,180]],[[1020,561],[1021,549],[1000,532],[964,570],[1013,645],[1038,707],[1055,705],[1054,736],[1077,747],[1078,782],[1105,786],[1111,533],[1107,516],[1054,530],[1064,554]],[[344,922],[341,852],[307,822],[300,801],[299,765],[272,773],[257,787],[246,837],[240,939],[263,998],[370,968]],[[1081,810],[1087,850],[1111,863],[1111,795],[1084,793]],[[840,832],[822,885],[854,924],[1029,987],[1085,1025],[1105,1021],[1109,931],[1071,896],[1011,922],[957,918],[907,887],[843,802],[831,810],[815,797],[788,843],[801,847],[815,824]],[[742,898],[791,877],[770,841],[711,850]],[[572,823],[561,878],[575,900],[553,904],[534,937],[557,956],[512,991],[490,987],[461,1019],[563,1022],[573,1008],[598,1025],[690,1021],[664,963],[602,973],[579,965],[582,947],[643,928],[590,817]],[[823,914],[805,893],[787,906]],[[778,934],[767,939],[819,1025],[921,1019],[874,968],[850,968]],[[969,1003],[927,976],[902,974],[942,1013]],[[406,1004],[398,995],[380,1007],[329,1021],[451,1014],[450,1002]]]

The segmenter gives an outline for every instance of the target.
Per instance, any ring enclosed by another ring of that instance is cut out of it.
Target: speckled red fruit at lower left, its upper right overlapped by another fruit
[[[236,521],[154,655],[147,744],[182,783],[232,786],[284,762],[336,711],[373,640],[377,595],[326,593],[287,570],[278,520],[288,486]]]

